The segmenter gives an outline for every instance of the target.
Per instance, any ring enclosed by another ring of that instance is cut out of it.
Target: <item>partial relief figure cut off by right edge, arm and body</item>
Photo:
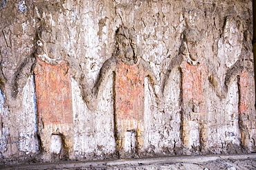
[[[243,56],[244,57],[244,56]],[[237,81],[239,91],[238,125],[241,135],[241,149],[246,153],[255,151],[256,119],[255,106],[252,100],[254,94],[253,62],[246,57],[241,58],[231,65],[225,73],[225,81],[221,85],[219,78],[211,76],[210,81],[218,96],[226,98],[230,85]]]

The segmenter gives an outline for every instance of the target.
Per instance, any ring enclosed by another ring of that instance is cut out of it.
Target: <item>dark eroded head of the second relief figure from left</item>
[[[136,64],[136,45],[133,41],[134,30],[120,27],[116,31],[116,52],[115,55],[127,65]]]

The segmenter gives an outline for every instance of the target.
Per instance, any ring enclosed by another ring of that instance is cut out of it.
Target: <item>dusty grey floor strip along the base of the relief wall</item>
[[[256,169],[256,153],[1,165],[0,169]]]

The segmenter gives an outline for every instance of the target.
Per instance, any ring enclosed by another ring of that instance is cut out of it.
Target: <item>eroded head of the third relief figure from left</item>
[[[194,65],[201,58],[201,34],[197,30],[188,29],[183,32],[183,42],[180,48],[181,54],[187,56],[190,64]]]

